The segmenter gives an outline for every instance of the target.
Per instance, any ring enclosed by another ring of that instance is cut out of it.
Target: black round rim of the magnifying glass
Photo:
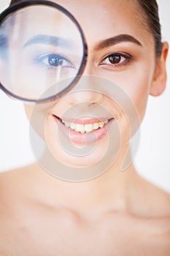
[[[66,92],[70,91],[74,85],[78,82],[78,80],[80,80],[80,77],[85,69],[85,64],[88,58],[88,46],[86,43],[86,39],[85,39],[85,35],[82,31],[82,28],[80,27],[80,24],[77,22],[77,20],[74,18],[74,16],[68,11],[66,10],[64,7],[62,7],[59,4],[54,3],[53,1],[46,1],[46,0],[36,0],[36,1],[32,1],[32,0],[24,0],[15,4],[12,4],[11,6],[9,6],[6,10],[4,10],[3,12],[1,12],[0,14],[0,26],[1,24],[4,22],[5,18],[7,18],[7,15],[12,14],[12,12],[18,11],[20,9],[23,9],[25,7],[31,7],[34,5],[45,5],[48,7],[54,7],[57,10],[60,10],[61,12],[63,12],[67,17],[70,18],[70,20],[72,20],[72,22],[77,26],[77,29],[80,31],[80,36],[82,38],[82,45],[83,45],[83,56],[82,56],[82,62],[80,64],[80,69],[77,72],[77,75],[75,76],[75,78],[72,80],[72,83],[69,84],[69,86],[67,86],[65,89],[63,89],[63,91],[60,91],[58,94],[55,94],[53,96],[47,97],[45,99],[28,99],[28,98],[24,98],[24,97],[19,97],[18,95],[12,94],[11,91],[7,90],[0,81],[0,89],[2,91],[4,91],[9,97],[12,97],[13,99],[19,99],[22,102],[47,102],[50,100],[54,100],[54,99],[58,99],[58,97],[63,96],[63,94],[66,94]],[[41,95],[40,95],[41,97]]]

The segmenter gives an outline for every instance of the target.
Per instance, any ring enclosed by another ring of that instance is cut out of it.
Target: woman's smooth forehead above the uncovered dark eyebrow
[[[117,34],[146,34],[146,22],[136,0],[52,0],[74,15],[89,39]],[[98,33],[99,31],[99,33]],[[100,38],[101,37],[101,38]]]

